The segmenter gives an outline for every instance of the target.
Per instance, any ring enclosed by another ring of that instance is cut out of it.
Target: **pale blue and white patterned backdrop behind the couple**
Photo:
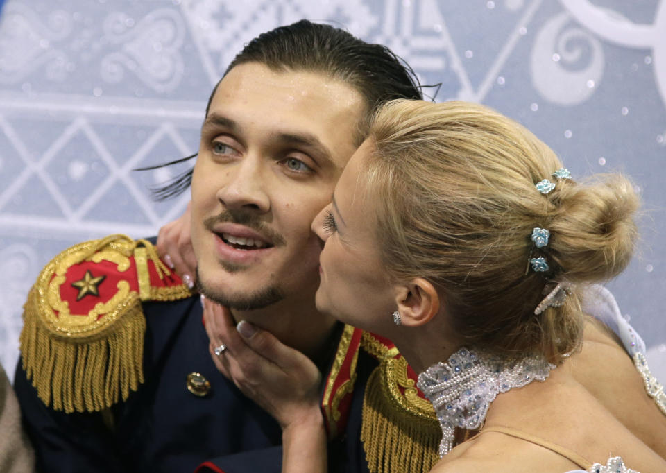
[[[2,5],[2,0],[0,0]],[[639,250],[608,285],[666,379],[666,0],[7,0],[0,12],[0,362],[22,304],[78,241],[155,234],[181,196],[133,172],[196,152],[207,97],[251,38],[301,18],[388,45],[438,101],[495,107],[574,177],[622,171]]]

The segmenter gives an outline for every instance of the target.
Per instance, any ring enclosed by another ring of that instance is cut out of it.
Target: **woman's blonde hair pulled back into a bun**
[[[631,259],[639,200],[622,175],[556,181],[555,153],[529,130],[482,105],[393,101],[380,109],[366,161],[378,205],[377,241],[393,279],[425,277],[440,289],[452,329],[468,345],[552,362],[579,344],[577,291],[536,316],[547,283],[527,270],[534,227],[552,279],[575,284],[618,275]],[[536,256],[536,255],[534,255]]]

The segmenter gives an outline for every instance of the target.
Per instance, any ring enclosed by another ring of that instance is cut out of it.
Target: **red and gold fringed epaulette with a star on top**
[[[101,411],[143,382],[142,301],[191,295],[146,240],[112,235],[65,250],[24,306],[23,369],[56,411]]]

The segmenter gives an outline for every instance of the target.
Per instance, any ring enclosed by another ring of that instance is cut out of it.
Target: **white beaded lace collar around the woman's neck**
[[[439,456],[453,448],[456,427],[478,429],[497,394],[544,381],[555,365],[543,356],[507,359],[481,350],[461,348],[448,361],[418,375],[418,388],[437,413],[442,427]]]

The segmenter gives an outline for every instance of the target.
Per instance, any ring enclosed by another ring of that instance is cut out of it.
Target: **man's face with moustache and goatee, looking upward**
[[[258,309],[319,284],[314,216],[355,150],[362,96],[305,71],[249,63],[223,78],[192,177],[192,244],[205,295]]]

